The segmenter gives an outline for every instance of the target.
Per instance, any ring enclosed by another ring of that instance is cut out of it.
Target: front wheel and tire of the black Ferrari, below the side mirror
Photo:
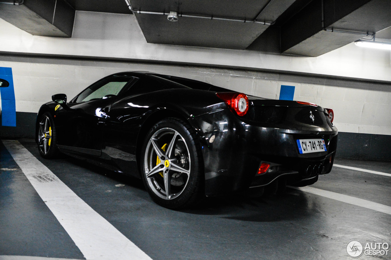
[[[38,120],[38,151],[45,159],[53,159],[58,156],[56,127],[52,115],[43,113]]]

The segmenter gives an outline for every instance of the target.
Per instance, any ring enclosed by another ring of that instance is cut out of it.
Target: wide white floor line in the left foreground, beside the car
[[[86,259],[151,260],[18,141],[2,142]]]

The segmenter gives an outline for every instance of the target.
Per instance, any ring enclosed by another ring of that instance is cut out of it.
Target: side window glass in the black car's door
[[[75,103],[114,97],[124,88],[127,82],[133,80],[129,77],[111,77],[98,81],[81,92]]]

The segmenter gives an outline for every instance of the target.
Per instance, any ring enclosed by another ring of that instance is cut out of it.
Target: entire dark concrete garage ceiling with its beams
[[[70,37],[75,11],[132,14],[125,0],[52,2],[56,4],[47,5],[47,0],[24,0],[23,5],[18,7],[0,4],[0,18],[31,34]],[[170,22],[167,15],[137,13],[136,19],[148,43],[319,56],[363,38],[367,32],[378,32],[376,38],[391,39],[391,30],[386,29],[391,26],[390,0],[129,2],[134,10],[159,13],[176,11],[179,14],[177,22]],[[246,22],[180,17],[180,14]],[[255,19],[267,24],[251,22]],[[31,28],[34,24],[39,25],[38,29]]]

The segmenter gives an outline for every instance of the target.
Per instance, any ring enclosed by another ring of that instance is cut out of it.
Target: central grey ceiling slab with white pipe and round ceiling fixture
[[[253,20],[273,23],[294,0],[213,0],[200,4],[199,0],[176,2],[131,0],[136,10],[152,12],[176,11],[178,14],[240,19],[235,22],[216,19],[179,17],[169,22],[167,16],[136,14],[145,39],[149,43],[189,45],[201,47],[245,49],[269,25],[252,23]],[[179,4],[178,4],[179,3]]]

